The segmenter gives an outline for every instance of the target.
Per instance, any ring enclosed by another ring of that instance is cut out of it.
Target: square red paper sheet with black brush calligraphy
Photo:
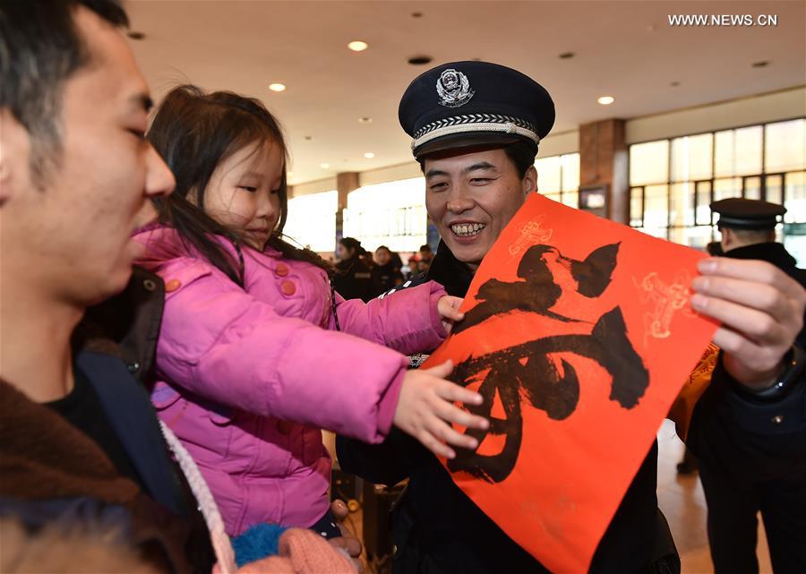
[[[454,481],[553,572],[588,570],[716,330],[690,308],[702,257],[535,194],[424,365],[452,359],[491,420],[459,429],[480,446],[443,461]]]

